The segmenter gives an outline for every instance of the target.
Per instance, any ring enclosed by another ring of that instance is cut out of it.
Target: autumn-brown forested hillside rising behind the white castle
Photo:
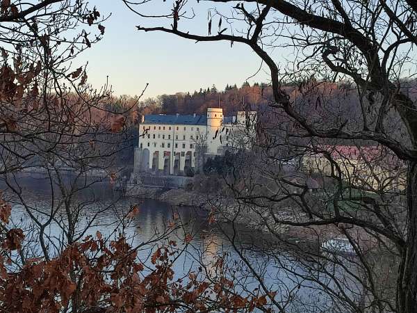
[[[417,99],[416,81],[407,81],[403,84],[404,92],[411,99]],[[348,82],[334,83],[331,81],[316,81],[313,77],[296,83],[287,83],[281,88],[288,95],[291,105],[296,111],[308,116],[312,124],[320,124],[327,120],[328,125],[336,128],[355,129],[361,124],[361,106],[365,111],[374,111],[374,102],[381,101],[380,96],[373,93],[361,95],[356,88]],[[361,106],[357,105],[361,102]],[[272,106],[271,106],[272,104]],[[114,98],[107,104],[109,111],[118,111],[126,116],[125,127],[130,140],[125,144],[126,150],[120,158],[125,163],[133,163],[133,146],[138,143],[137,124],[140,116],[147,114],[205,114],[208,107],[220,107],[224,115],[234,115],[237,111],[253,110],[258,112],[260,140],[276,141],[277,136],[295,134],[299,127],[288,115],[282,112],[279,104],[274,101],[272,88],[266,83],[227,84],[224,90],[216,86],[200,88],[194,93],[176,93],[175,95],[160,95],[155,98],[138,99],[138,97],[123,96]],[[133,108],[124,113],[126,108]],[[404,131],[399,127],[398,116],[390,109],[390,131],[398,135],[402,142]],[[375,112],[376,114],[376,112]],[[272,135],[273,134],[273,135]],[[271,136],[272,135],[272,136]],[[265,137],[265,138],[263,138]],[[339,144],[352,144],[341,141]],[[368,143],[363,143],[367,145]],[[270,145],[270,144],[269,144]]]

